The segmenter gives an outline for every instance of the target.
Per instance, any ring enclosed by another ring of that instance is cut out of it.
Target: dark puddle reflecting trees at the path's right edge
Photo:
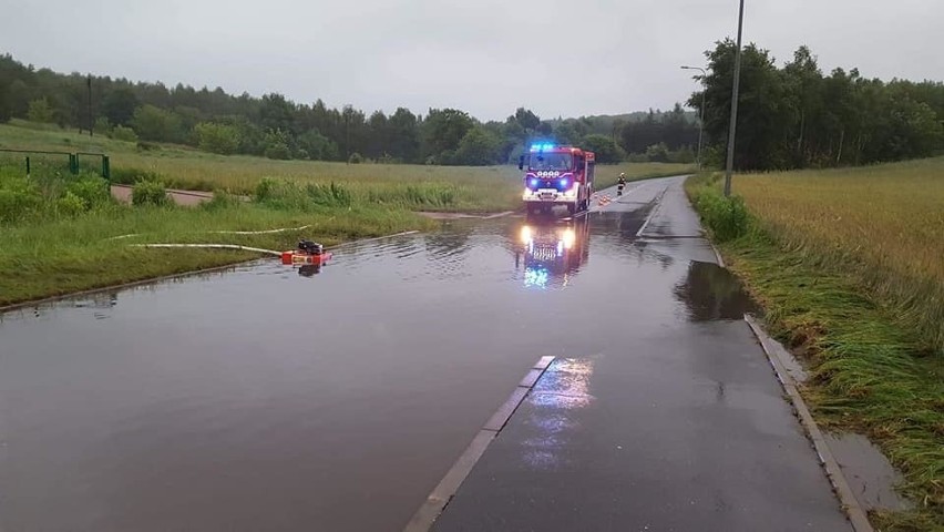
[[[691,321],[743,319],[745,314],[760,311],[741,282],[712,263],[690,262],[688,274],[673,293]]]

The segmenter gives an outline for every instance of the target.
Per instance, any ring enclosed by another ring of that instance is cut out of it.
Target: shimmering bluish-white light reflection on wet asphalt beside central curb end
[[[579,428],[574,410],[591,405],[594,359],[562,359],[541,377],[529,398],[536,408],[527,419],[536,432],[522,442],[524,462],[536,470],[555,470],[566,459],[568,432]]]

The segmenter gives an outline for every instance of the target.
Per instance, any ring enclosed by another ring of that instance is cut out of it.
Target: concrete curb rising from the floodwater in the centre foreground
[[[554,357],[548,356],[541,357],[534,364],[524,378],[521,379],[521,382],[514,389],[509,400],[489,418],[485,426],[479,430],[479,433],[475,434],[475,438],[472,439],[472,442],[469,443],[469,447],[459,457],[459,460],[449,468],[445,477],[433,488],[433,491],[427,497],[427,500],[420,505],[420,509],[417,510],[410,522],[407,523],[403,532],[428,532],[432,528],[435,520],[445,510],[449,501],[459,491],[459,487],[462,485],[462,482],[472,472],[472,468],[482,458],[485,449],[499,436],[514,411],[517,410],[517,407],[527,397],[534,385],[537,383],[537,379],[544,375],[544,371],[547,370],[547,367],[553,361]]]

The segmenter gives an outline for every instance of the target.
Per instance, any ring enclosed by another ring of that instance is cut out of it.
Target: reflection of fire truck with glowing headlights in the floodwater
[[[525,286],[566,286],[589,258],[586,217],[562,224],[524,225],[519,238],[515,268],[524,267]]]

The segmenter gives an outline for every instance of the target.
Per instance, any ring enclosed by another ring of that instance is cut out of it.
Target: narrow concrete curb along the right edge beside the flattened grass
[[[842,504],[842,509],[845,511],[845,516],[852,524],[852,529],[855,532],[874,532],[865,510],[855,499],[842,469],[839,467],[839,462],[837,462],[835,457],[833,457],[829,448],[829,443],[827,443],[822,431],[810,413],[810,409],[807,407],[806,401],[803,401],[802,396],[800,396],[800,390],[797,388],[796,381],[787,371],[784,361],[780,359],[780,355],[774,349],[770,348],[771,342],[776,340],[760,327],[753,317],[745,315],[745,321],[747,321],[750,330],[757,337],[758,342],[760,342],[760,347],[763,349],[765,355],[767,355],[770,366],[773,367],[773,371],[777,374],[777,379],[780,380],[783,391],[790,398],[797,417],[800,419],[800,424],[803,426],[803,430],[806,430],[807,436],[813,443],[813,448],[820,459],[820,464],[825,469],[827,477],[839,498],[839,502]]]

